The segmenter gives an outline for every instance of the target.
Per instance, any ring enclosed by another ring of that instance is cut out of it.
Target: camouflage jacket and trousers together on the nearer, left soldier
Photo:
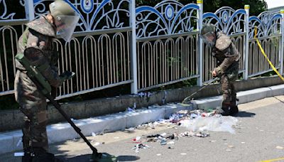
[[[45,17],[40,17],[27,24],[28,29],[18,41],[18,53],[24,53],[32,65],[40,66],[40,72],[53,87],[59,87],[62,80],[54,65],[57,53],[53,50],[55,28]],[[27,49],[28,48],[28,49]],[[43,148],[48,151],[46,134],[47,112],[46,99],[26,74],[25,68],[16,60],[15,97],[25,114],[23,125],[23,148]]]

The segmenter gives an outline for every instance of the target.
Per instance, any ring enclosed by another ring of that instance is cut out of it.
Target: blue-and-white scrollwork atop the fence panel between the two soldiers
[[[154,7],[136,8],[136,36],[172,35],[193,31],[197,27],[197,4],[182,5],[178,1],[165,0]]]

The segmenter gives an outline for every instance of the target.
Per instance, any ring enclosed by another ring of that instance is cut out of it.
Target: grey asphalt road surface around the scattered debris
[[[155,129],[118,131],[90,136],[100,152],[118,156],[119,161],[284,161],[284,96],[270,97],[239,105],[236,134],[212,132],[210,136],[182,137],[174,145],[146,142],[150,148],[132,150],[131,139],[146,134],[173,134],[184,127],[162,124]],[[102,144],[104,142],[104,144]],[[168,147],[171,148],[168,148]],[[92,151],[82,140],[70,140],[50,146],[50,151],[65,161],[89,161]],[[0,155],[0,161],[21,161],[13,153]]]

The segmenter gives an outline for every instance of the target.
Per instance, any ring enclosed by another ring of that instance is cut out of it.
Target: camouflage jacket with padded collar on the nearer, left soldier
[[[58,53],[53,49],[55,27],[44,16],[27,23],[28,27],[18,41],[18,53],[24,53],[32,65],[41,66],[40,72],[53,87],[59,87],[62,80],[58,76]],[[42,66],[44,65],[44,66]],[[16,68],[25,68],[16,60]]]

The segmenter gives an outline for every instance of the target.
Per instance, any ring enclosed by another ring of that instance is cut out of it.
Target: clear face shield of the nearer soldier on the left
[[[67,42],[71,40],[75,27],[80,19],[80,16],[57,16],[55,18],[55,26],[58,34]]]

